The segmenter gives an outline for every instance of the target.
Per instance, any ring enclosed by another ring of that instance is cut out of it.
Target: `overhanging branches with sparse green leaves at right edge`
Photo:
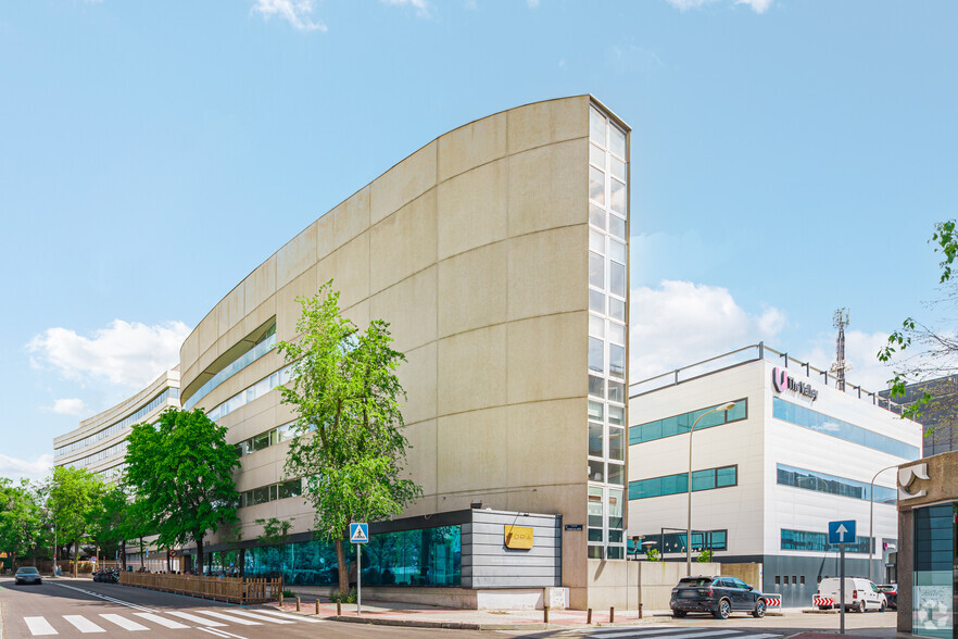
[[[948,220],[936,223],[929,241],[933,245],[934,251],[943,256],[938,264],[942,270],[938,284],[945,287],[945,297],[936,303],[950,306],[958,299],[958,288],[956,288],[958,283],[951,279],[951,266],[958,258],[956,222]],[[921,421],[923,413],[931,410],[943,423],[954,424],[956,422],[954,391],[933,394],[928,389],[919,389],[918,396],[915,397],[916,393],[909,392],[906,387],[958,373],[958,361],[956,361],[958,338],[951,330],[937,330],[913,317],[907,317],[902,323],[902,328],[888,337],[887,343],[879,351],[878,359],[882,362],[891,362],[907,349],[917,349],[918,352],[910,358],[899,358],[895,363],[895,377],[890,380],[891,396],[906,398],[908,402],[903,416]],[[955,385],[954,380],[951,383],[940,380],[936,384],[938,387],[946,387],[946,390],[947,387]]]

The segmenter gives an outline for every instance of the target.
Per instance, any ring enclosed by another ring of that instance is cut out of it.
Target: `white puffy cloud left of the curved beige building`
[[[48,328],[26,348],[35,354],[35,366],[51,366],[65,378],[106,379],[140,389],[179,361],[179,347],[189,333],[182,322],[147,326],[115,320],[91,337]]]

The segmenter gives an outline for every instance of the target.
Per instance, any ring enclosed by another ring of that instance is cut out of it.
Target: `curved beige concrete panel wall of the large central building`
[[[344,315],[361,327],[390,322],[407,358],[407,471],[424,494],[403,516],[480,500],[584,522],[592,103],[552,100],[472,122],[323,215],[187,338],[182,400],[272,317],[278,339],[294,339],[295,298],[332,279]],[[215,408],[281,366],[264,355],[199,405]],[[272,391],[219,424],[241,441],[292,419]],[[286,448],[244,456],[238,489],[282,480]],[[301,499],[240,516],[245,539],[262,532],[255,518],[294,517],[292,532],[313,519]],[[584,534],[565,534],[563,547],[564,578],[584,585]]]

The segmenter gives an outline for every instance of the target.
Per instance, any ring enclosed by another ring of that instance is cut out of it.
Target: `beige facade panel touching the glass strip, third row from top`
[[[588,310],[588,227],[567,226],[509,239],[508,280],[509,320]]]

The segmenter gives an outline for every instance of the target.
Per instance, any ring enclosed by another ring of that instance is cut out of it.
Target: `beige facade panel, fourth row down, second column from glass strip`
[[[439,415],[505,404],[506,327],[441,339],[438,387]]]

